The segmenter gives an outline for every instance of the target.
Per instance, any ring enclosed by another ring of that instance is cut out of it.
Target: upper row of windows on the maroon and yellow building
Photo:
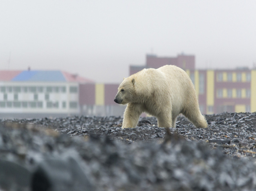
[[[217,73],[218,82],[250,82],[251,73],[250,72],[218,72]]]

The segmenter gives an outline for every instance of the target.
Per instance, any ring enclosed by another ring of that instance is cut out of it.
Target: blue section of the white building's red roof
[[[23,71],[12,79],[12,81],[34,81],[34,82],[66,82],[61,71]]]

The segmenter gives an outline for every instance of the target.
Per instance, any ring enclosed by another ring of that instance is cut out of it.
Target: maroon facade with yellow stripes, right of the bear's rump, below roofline
[[[190,70],[200,110],[256,112],[256,70]]]

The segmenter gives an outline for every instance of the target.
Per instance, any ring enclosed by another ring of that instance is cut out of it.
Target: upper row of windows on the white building
[[[66,93],[66,86],[0,86],[0,92],[2,93],[20,93],[20,92],[31,92],[31,93]],[[70,93],[77,93],[77,86],[69,87]]]

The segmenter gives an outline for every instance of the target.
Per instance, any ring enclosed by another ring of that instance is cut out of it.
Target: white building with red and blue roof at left
[[[0,71],[0,118],[80,113],[79,84],[89,79],[63,71]]]

